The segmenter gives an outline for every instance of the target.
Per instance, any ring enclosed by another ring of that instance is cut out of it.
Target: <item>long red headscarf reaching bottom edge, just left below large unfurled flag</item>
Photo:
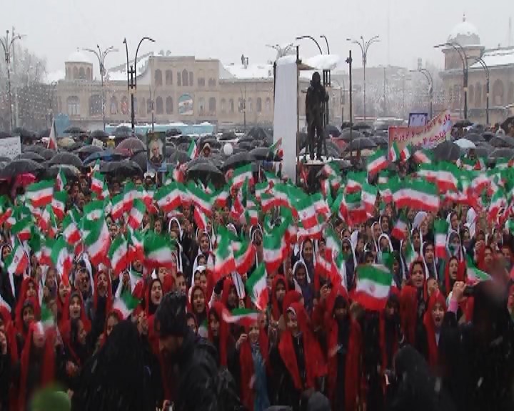
[[[334,306],[336,304],[336,298],[341,297],[346,300],[348,304],[348,318],[350,322],[350,334],[348,336],[348,352],[346,353],[346,364],[345,364],[345,410],[354,411],[357,410],[357,397],[359,387],[359,362],[361,358],[361,345],[362,335],[361,326],[354,320],[350,315],[350,304],[348,293],[345,288],[334,287],[331,293],[326,299],[326,333],[327,333],[327,345],[328,345],[328,398],[331,403],[335,405],[336,392],[338,390],[337,385],[337,371],[338,371],[338,357],[334,350],[338,345],[338,322],[334,318]]]

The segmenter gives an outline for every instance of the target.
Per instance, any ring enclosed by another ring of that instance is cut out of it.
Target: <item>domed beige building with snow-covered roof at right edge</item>
[[[514,47],[486,49],[478,29],[463,16],[442,49],[445,100],[455,118],[475,123],[497,123],[512,115],[514,107]],[[468,87],[464,88],[464,66],[468,66]],[[489,79],[489,80],[488,80]]]

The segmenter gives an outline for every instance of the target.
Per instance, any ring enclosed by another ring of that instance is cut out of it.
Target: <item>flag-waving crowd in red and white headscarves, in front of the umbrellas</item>
[[[52,383],[75,410],[513,410],[514,179],[458,166],[427,210],[324,168],[314,223],[270,173],[2,183],[0,410]]]

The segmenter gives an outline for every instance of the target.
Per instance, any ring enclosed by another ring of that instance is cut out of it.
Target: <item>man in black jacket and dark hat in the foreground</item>
[[[178,366],[177,398],[173,410],[218,411],[216,348],[187,326],[186,295],[168,293],[155,316],[164,367]]]

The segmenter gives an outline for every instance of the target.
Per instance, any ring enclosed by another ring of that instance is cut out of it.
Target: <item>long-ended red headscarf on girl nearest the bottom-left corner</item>
[[[38,328],[37,323],[32,323],[29,327],[29,333],[25,340],[24,350],[21,353],[21,377],[19,385],[19,410],[25,410],[26,401],[26,384],[29,375],[29,367],[31,366],[31,350],[33,345],[34,331]],[[55,375],[55,348],[54,338],[46,333],[46,340],[43,347],[43,362],[41,363],[41,376],[39,385],[44,387],[54,380]]]

